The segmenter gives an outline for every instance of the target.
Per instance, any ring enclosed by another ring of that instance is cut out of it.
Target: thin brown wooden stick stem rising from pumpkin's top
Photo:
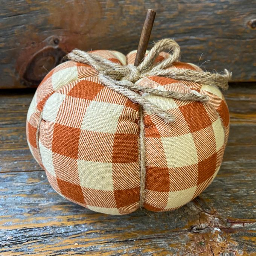
[[[148,9],[146,19],[143,25],[143,29],[140,35],[139,46],[134,61],[134,66],[139,66],[140,62],[145,56],[146,49],[148,47],[149,37],[155,20],[156,12],[152,9]]]

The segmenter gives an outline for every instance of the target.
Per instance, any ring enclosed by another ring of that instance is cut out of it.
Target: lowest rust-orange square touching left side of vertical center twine
[[[140,188],[114,190],[114,196],[117,207],[124,207],[139,202]]]

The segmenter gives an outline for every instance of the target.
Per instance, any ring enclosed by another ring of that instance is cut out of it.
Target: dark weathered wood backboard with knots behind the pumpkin
[[[37,85],[75,47],[124,54],[137,49],[148,8],[157,12],[151,42],[174,38],[183,61],[229,69],[233,81],[256,81],[255,1],[0,0],[0,5],[0,88]]]

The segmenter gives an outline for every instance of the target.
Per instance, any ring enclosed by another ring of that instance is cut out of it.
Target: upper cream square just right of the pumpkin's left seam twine
[[[55,122],[59,107],[64,101],[66,95],[61,93],[53,93],[49,99],[46,101],[43,109],[43,119]]]

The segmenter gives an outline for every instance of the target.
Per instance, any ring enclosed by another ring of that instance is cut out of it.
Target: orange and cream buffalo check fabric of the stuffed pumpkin
[[[133,64],[136,52],[94,53]],[[166,58],[160,53],[156,61]],[[171,68],[199,69],[176,62]],[[27,113],[33,156],[60,195],[96,212],[123,215],[140,201],[139,105],[105,87],[97,71],[67,61],[39,85]],[[158,90],[207,94],[209,102],[179,101],[144,94],[174,114],[174,122],[143,110],[146,196],[143,207],[174,210],[197,197],[216,176],[229,134],[229,111],[217,87],[165,77],[136,82]]]

